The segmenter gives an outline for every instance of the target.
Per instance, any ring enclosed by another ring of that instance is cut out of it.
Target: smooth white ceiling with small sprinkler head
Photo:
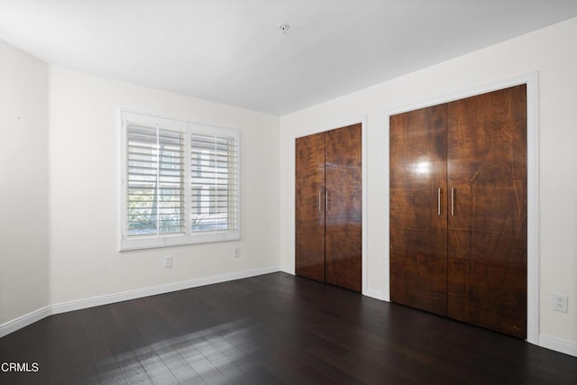
[[[577,0],[0,0],[0,39],[286,115],[574,16]]]

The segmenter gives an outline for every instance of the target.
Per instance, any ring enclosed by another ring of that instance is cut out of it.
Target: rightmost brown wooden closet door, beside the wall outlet
[[[448,104],[448,316],[527,335],[526,86]],[[451,194],[451,191],[449,191]]]

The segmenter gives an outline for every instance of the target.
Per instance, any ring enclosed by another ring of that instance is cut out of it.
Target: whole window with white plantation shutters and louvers
[[[240,239],[239,131],[121,119],[121,250]]]

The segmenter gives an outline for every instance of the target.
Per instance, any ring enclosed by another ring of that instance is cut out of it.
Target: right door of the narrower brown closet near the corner
[[[326,275],[334,285],[362,290],[361,124],[326,133]]]

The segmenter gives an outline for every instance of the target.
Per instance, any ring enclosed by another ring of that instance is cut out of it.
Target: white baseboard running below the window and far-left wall
[[[242,280],[243,278],[256,277],[263,274],[269,274],[271,272],[277,272],[279,270],[279,266],[268,266],[259,269],[236,271],[227,274],[215,275],[212,277],[198,278],[195,280],[183,280],[180,282],[168,283],[166,285],[154,286],[151,288],[135,289],[121,293],[108,294],[105,296],[78,299],[60,304],[53,304],[47,307],[42,307],[38,310],[34,310],[31,313],[28,313],[24,316],[19,316],[18,318],[0,325],[0,338],[53,314],[66,313],[87,307],[108,305],[130,299],[155,296],[157,294],[169,293],[171,291],[198,288],[200,286],[227,282],[229,280]]]

